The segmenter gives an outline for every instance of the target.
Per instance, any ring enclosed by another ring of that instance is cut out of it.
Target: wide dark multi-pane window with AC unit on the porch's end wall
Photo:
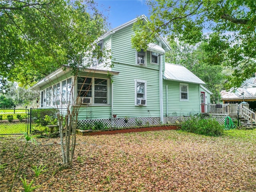
[[[86,103],[92,99],[93,104],[108,104],[108,79],[79,77],[77,96],[87,98]]]

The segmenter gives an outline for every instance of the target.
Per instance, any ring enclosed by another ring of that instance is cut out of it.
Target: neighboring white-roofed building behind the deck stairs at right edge
[[[229,91],[220,92],[223,103],[247,102],[249,107],[256,109],[256,77],[249,78],[239,88],[231,88]]]

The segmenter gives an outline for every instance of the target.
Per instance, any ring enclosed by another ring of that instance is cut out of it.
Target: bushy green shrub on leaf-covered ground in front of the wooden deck
[[[220,136],[224,133],[224,127],[215,119],[202,119],[196,116],[182,123],[181,130],[206,136]]]

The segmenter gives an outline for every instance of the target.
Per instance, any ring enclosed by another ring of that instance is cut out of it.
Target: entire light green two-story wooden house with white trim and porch
[[[142,19],[146,22],[145,16]],[[116,127],[127,125],[123,122],[126,116],[131,124],[138,119],[143,124],[160,124],[204,112],[201,103],[210,103],[211,92],[184,66],[165,63],[165,53],[170,50],[167,42],[157,38],[148,50],[137,52],[132,48],[132,25],[136,20],[99,39],[100,46],[111,49],[108,62],[114,64],[113,68],[96,60],[77,80],[67,67],[35,84],[32,88],[41,91],[40,107],[65,107],[71,101],[82,104],[80,120],[100,119]]]

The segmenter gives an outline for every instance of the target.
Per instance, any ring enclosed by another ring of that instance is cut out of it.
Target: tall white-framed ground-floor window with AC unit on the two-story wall
[[[147,104],[147,82],[135,80],[135,105],[146,106]]]

